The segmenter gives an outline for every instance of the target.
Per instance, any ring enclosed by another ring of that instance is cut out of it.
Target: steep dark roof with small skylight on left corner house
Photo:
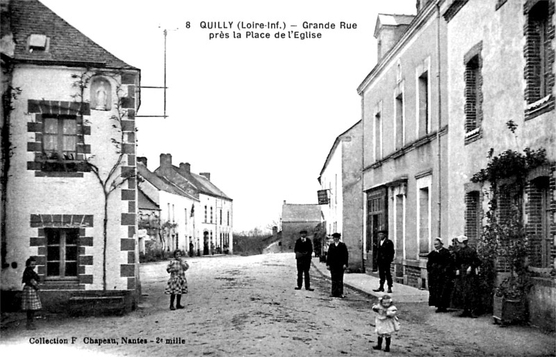
[[[138,70],[83,35],[38,0],[11,0],[10,26],[16,44],[16,61]],[[31,34],[46,35],[49,50],[28,51]]]

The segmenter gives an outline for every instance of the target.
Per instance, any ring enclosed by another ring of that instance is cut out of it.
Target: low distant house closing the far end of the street
[[[313,231],[321,221],[319,205],[300,205],[286,203],[282,205],[282,250],[293,251],[295,240],[300,231],[306,230],[307,237],[313,239]]]

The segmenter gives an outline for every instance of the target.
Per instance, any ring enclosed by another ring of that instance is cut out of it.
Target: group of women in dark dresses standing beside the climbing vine
[[[447,312],[450,306],[463,308],[460,317],[476,317],[475,295],[481,260],[475,249],[468,246],[468,237],[459,235],[452,240],[451,250],[441,238],[434,239],[434,251],[427,257],[429,306],[436,312]]]

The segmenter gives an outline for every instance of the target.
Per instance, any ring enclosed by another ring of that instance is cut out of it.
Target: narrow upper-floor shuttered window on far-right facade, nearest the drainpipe
[[[473,56],[465,66],[465,132],[473,132],[481,125],[480,57]]]

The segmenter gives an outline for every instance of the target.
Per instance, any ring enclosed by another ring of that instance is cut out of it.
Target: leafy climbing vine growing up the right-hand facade
[[[507,122],[517,144],[517,125]],[[523,225],[523,190],[528,173],[539,166],[549,164],[546,150],[525,148],[523,151],[505,150],[494,155],[489,150],[489,163],[471,178],[472,182],[489,182],[485,191],[489,198],[489,209],[485,214],[486,224],[477,244],[477,253],[482,259],[480,289],[508,299],[521,299],[528,287],[527,255],[528,235]],[[503,207],[501,200],[504,200]],[[503,208],[504,212],[501,212]],[[498,271],[509,271],[509,276],[495,289]],[[491,300],[490,300],[491,301]],[[486,301],[491,306],[490,301]]]

